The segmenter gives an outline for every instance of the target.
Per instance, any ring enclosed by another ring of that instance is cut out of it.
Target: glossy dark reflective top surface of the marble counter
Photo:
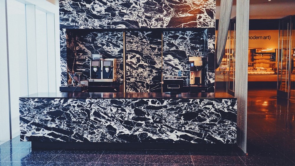
[[[34,93],[20,98],[235,98],[228,93],[109,93],[109,92],[57,92]]]

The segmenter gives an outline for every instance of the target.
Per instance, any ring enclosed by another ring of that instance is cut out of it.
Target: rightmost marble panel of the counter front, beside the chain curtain
[[[236,143],[235,100],[171,99],[163,109],[167,142]]]

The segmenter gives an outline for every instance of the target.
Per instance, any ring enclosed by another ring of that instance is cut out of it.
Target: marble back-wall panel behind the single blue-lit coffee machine
[[[163,32],[163,79],[171,79],[178,76],[178,71],[186,77],[184,86],[189,86],[189,57],[208,57],[208,35],[207,28],[196,29],[195,31],[164,31]],[[202,77],[207,85],[208,65],[203,64]]]

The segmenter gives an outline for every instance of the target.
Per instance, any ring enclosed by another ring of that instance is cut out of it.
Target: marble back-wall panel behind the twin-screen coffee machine
[[[123,32],[93,32],[89,30],[67,31],[68,70],[82,72],[81,80],[90,78],[92,54],[103,54],[104,58],[117,59],[117,82],[123,84]]]

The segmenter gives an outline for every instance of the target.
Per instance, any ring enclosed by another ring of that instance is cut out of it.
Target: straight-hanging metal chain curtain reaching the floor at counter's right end
[[[248,47],[250,0],[237,0],[235,97],[237,98],[237,144],[246,153]]]

